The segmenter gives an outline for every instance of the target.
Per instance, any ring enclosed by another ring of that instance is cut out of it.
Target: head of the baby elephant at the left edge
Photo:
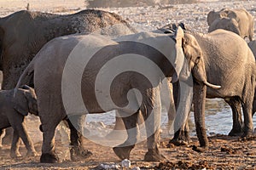
[[[38,115],[37,96],[33,88],[23,86],[18,90],[13,102],[15,110],[22,115],[27,116],[28,112]]]

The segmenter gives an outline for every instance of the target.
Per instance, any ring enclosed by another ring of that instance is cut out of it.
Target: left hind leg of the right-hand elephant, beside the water
[[[232,109],[233,127],[229,136],[240,136],[242,133],[241,103],[236,97],[225,99]]]

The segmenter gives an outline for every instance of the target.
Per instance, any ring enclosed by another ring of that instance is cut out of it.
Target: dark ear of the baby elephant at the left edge
[[[28,115],[28,105],[25,91],[18,89],[18,93],[13,98],[12,103],[15,111],[18,111],[23,116]]]

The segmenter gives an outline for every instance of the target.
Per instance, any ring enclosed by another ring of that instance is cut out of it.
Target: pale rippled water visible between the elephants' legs
[[[189,115],[189,127],[191,135],[195,135],[194,113]],[[167,125],[166,111],[162,111],[161,122],[165,129]],[[114,111],[104,114],[91,114],[86,118],[87,123],[103,122],[105,125],[113,125],[115,122]],[[232,112],[230,106],[223,99],[207,99],[206,126],[207,133],[213,135],[228,134],[232,128]],[[256,116],[253,116],[253,125],[256,127]],[[173,133],[173,132],[172,132]]]

